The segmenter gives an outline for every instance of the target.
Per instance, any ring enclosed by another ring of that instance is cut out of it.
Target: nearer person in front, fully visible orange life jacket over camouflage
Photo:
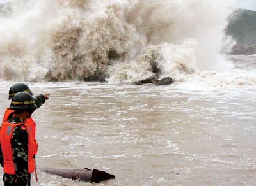
[[[28,92],[18,92],[12,98],[10,109],[14,110],[14,115],[2,122],[0,129],[3,181],[5,186],[29,186],[37,147],[26,120],[36,109],[35,100]]]

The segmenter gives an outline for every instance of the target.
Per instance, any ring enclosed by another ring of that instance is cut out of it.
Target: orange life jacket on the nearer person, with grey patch
[[[1,150],[4,157],[4,173],[8,175],[15,175],[11,139],[13,129],[17,125],[20,125],[22,130],[28,131],[28,173],[33,173],[35,169],[34,155],[36,152],[35,148],[37,148],[37,145],[34,141],[34,137],[29,125],[26,123],[10,124],[8,122],[3,122],[0,129],[0,142]]]

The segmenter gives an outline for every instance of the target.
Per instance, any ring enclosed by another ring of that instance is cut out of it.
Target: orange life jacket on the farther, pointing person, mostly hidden
[[[10,108],[6,108],[5,112],[4,112],[4,117],[3,117],[3,122],[7,122],[9,116],[13,114],[13,116],[15,115],[14,110],[10,109]],[[33,140],[35,141],[37,147],[35,149],[35,154],[37,154],[37,150],[38,150],[38,143],[36,141],[36,123],[34,122],[33,118],[30,117],[28,119],[26,119],[26,123],[29,125],[32,134],[33,134]]]

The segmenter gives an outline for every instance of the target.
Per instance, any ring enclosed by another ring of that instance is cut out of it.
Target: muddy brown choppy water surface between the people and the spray
[[[236,66],[246,71],[246,65]],[[0,83],[1,113],[13,83]],[[33,113],[39,168],[86,167],[116,175],[102,185],[256,184],[253,87],[28,84],[35,94],[51,94]],[[34,185],[91,185],[41,171],[38,178]]]

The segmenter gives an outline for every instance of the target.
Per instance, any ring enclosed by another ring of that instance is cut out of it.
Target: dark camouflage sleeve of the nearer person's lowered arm
[[[13,129],[12,139],[13,164],[15,176],[19,180],[19,185],[27,185],[28,175],[28,132],[22,130],[20,125]]]

